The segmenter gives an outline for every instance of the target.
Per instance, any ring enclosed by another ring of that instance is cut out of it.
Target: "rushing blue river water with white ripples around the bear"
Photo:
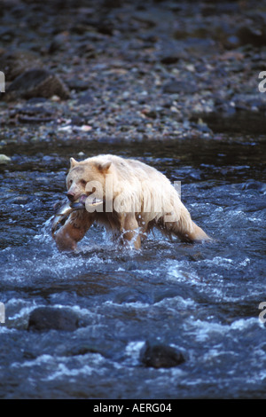
[[[10,152],[0,172],[0,397],[266,398],[263,141]],[[98,153],[137,157],[181,180],[184,204],[215,241],[189,245],[154,232],[135,251],[96,225],[75,254],[60,254],[49,219],[69,157]],[[28,332],[30,311],[48,305],[75,311],[84,326]],[[143,366],[147,340],[176,347],[185,362]]]

